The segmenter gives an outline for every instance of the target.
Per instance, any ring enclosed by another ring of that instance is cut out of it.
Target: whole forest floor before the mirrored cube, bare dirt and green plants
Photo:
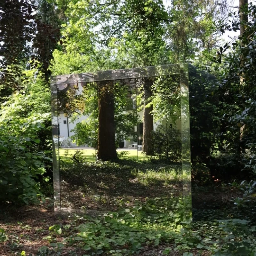
[[[152,210],[156,205],[151,202],[147,207]],[[0,214],[0,255],[256,255],[255,207],[247,208],[247,213],[251,212],[247,220],[241,220],[244,211],[234,211],[228,220],[214,220],[219,219],[214,215],[217,210],[206,211],[205,219],[191,223],[186,223],[188,218],[182,217],[184,205],[177,202],[174,214],[151,214],[152,220],[155,218],[151,222],[145,221],[147,207],[126,208],[119,215],[112,212],[94,218],[75,214],[57,217],[52,199],[38,205],[6,207]],[[184,224],[180,219],[185,220]],[[248,254],[233,254],[230,248],[234,243]]]

